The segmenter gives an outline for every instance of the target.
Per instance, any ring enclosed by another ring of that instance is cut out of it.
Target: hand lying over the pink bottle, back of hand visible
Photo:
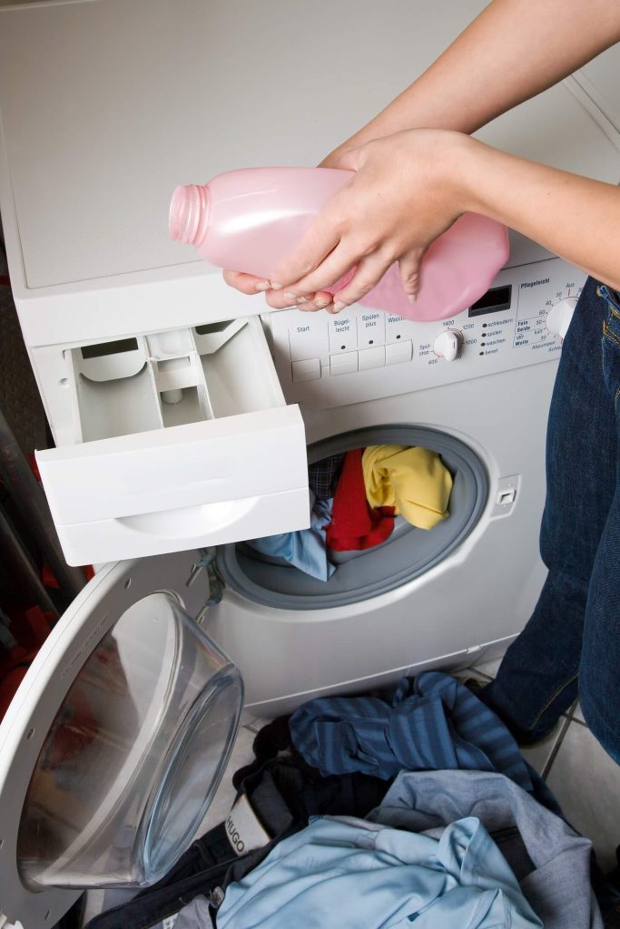
[[[270,306],[307,301],[333,287],[334,305],[360,300],[398,261],[403,288],[413,301],[420,264],[431,242],[464,212],[458,185],[459,155],[470,140],[458,133],[411,129],[347,151],[334,167],[356,172],[315,218],[295,252],[274,268]]]

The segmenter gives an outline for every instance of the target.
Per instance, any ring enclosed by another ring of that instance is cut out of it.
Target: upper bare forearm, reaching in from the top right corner
[[[474,132],[617,41],[615,0],[494,0],[428,71],[333,156],[402,129]]]

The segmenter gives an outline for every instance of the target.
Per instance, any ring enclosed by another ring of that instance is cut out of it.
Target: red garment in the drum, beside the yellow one
[[[362,471],[363,449],[348,451],[334,494],[327,547],[334,552],[361,551],[385,542],[394,528],[394,507],[372,509],[366,501]]]

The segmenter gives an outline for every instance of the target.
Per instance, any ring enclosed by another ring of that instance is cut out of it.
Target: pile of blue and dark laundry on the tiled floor
[[[454,677],[312,700],[254,750],[226,821],[88,929],[602,929],[590,842]]]

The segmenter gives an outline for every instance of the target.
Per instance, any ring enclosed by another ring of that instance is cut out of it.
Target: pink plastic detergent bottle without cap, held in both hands
[[[195,245],[204,260],[218,268],[269,280],[352,173],[336,168],[244,168],[218,175],[208,184],[180,186],[170,203],[170,235]],[[409,320],[444,320],[475,303],[507,259],[508,229],[467,213],[430,245],[415,304],[404,293],[396,264],[360,303]]]

